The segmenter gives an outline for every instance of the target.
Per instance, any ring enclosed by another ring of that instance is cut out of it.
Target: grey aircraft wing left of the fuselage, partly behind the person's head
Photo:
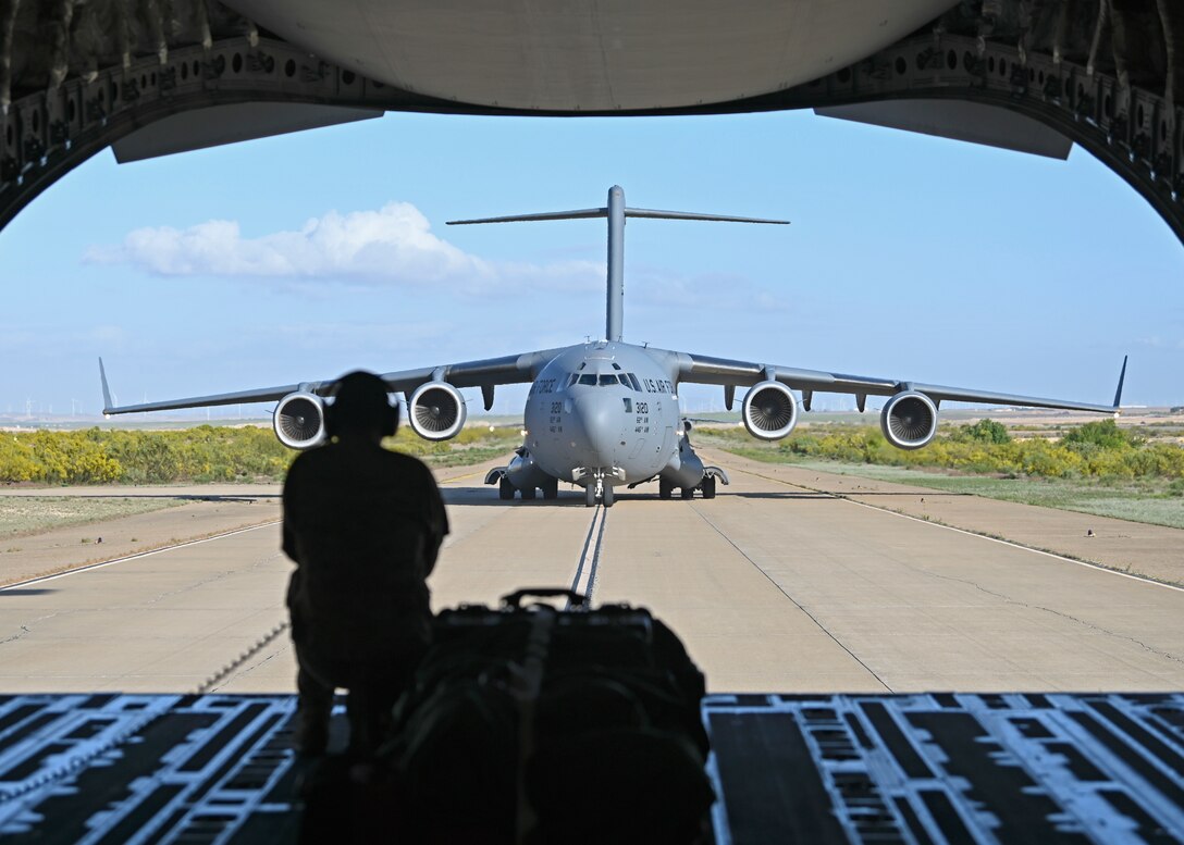
[[[481,361],[462,361],[459,363],[395,370],[393,373],[382,373],[379,378],[386,382],[387,389],[391,393],[404,393],[407,395],[427,381],[446,381],[453,387],[481,387],[485,396],[485,409],[488,411],[493,404],[493,388],[496,385],[533,381],[539,370],[560,351],[562,350],[545,349],[521,355],[483,359]],[[208,396],[188,396],[185,399],[116,406],[111,400],[111,391],[107,383],[107,372],[103,369],[102,359],[98,360],[98,372],[103,382],[104,414],[130,414],[143,411],[176,411],[180,408],[204,408],[214,405],[271,402],[297,392],[328,396],[332,395],[336,385],[336,379],[326,379],[281,385],[277,387],[260,387],[252,391],[237,391],[234,393],[215,393]]]

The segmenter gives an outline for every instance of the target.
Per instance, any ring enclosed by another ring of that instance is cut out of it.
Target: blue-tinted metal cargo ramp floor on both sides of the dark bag
[[[295,841],[294,710],[0,697],[0,838]],[[1184,695],[710,696],[703,717],[719,845],[1184,839]]]

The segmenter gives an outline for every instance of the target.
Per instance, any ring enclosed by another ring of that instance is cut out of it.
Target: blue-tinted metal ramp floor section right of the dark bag
[[[704,717],[719,845],[1184,840],[1182,695],[713,696]]]

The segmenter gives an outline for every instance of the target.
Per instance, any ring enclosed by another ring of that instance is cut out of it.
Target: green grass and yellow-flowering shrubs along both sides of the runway
[[[1010,438],[985,443],[969,436],[979,428],[984,428],[979,434],[992,433],[985,425],[945,428],[916,452],[893,449],[869,426],[837,422],[811,426],[778,444],[755,441],[734,426],[704,426],[695,441],[758,460],[1184,528],[1184,449],[1169,438],[1147,437],[1146,426],[1125,433],[1107,425],[1069,427],[1058,430],[1060,440],[1051,443]],[[444,443],[423,440],[403,427],[386,445],[446,467],[508,459],[521,441],[516,426],[489,431],[481,425]],[[0,438],[0,480],[279,480],[295,454],[264,428],[41,431]],[[46,514],[40,523],[36,515],[19,514],[22,505],[17,499],[0,501],[0,537],[38,530],[36,524],[78,524],[163,507],[148,504],[152,499],[66,503],[57,497],[62,503],[51,505],[53,497],[39,498]],[[51,512],[54,508],[71,512]]]

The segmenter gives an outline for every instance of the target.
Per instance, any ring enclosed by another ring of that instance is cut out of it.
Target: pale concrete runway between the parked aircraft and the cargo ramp
[[[650,485],[610,510],[452,471],[433,604],[577,585],[644,605],[715,692],[1184,689],[1184,591],[714,459],[714,501]],[[278,547],[270,524],[0,591],[0,692],[291,691]]]

